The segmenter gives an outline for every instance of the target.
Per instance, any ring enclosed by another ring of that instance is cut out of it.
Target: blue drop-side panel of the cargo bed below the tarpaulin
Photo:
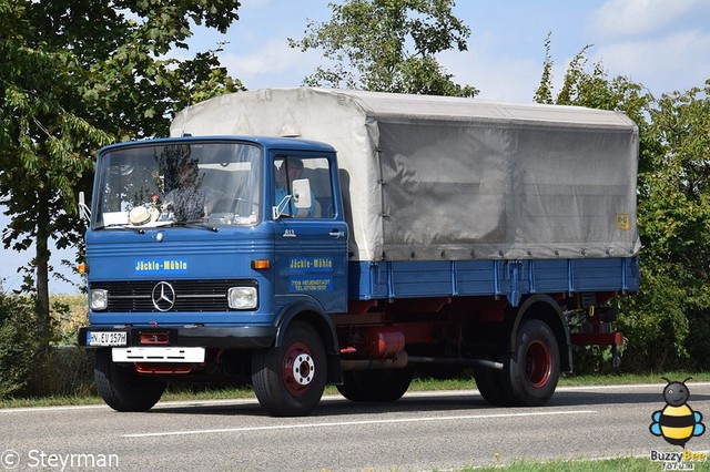
[[[349,263],[353,299],[636,291],[638,258]]]

